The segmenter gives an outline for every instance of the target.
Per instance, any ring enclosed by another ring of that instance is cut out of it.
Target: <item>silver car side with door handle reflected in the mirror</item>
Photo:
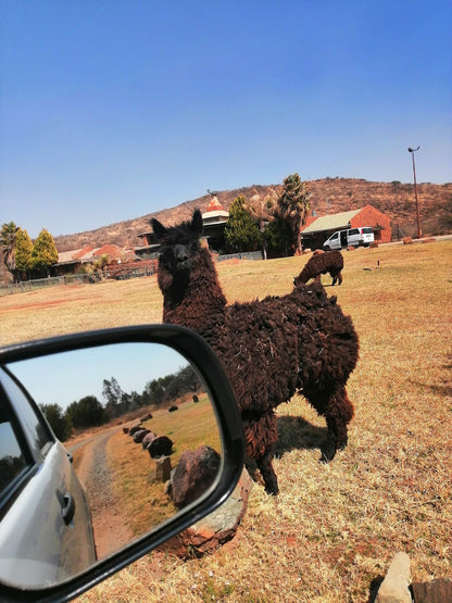
[[[28,587],[56,582],[96,560],[89,510],[70,455],[4,368],[0,469],[2,581]]]

